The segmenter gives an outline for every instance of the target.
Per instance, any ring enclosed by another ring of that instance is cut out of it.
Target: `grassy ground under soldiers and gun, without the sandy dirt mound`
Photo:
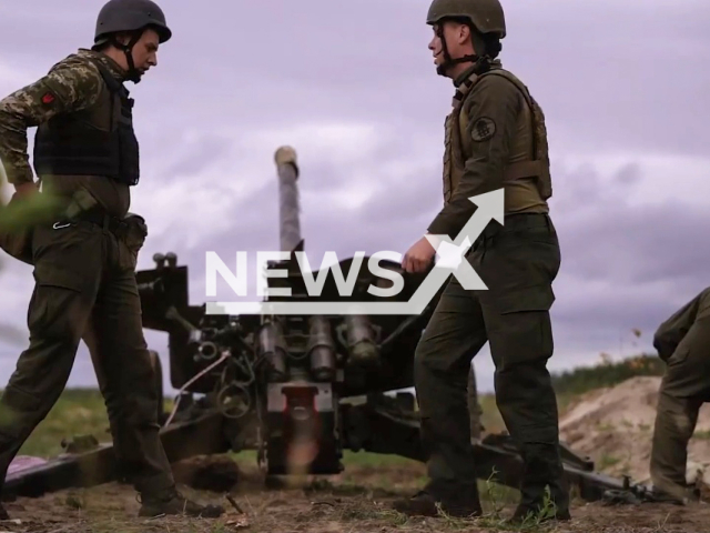
[[[580,369],[555,378],[560,409],[579,394],[597,386],[610,386],[631,375],[658,375],[652,358]],[[484,425],[489,432],[504,429],[491,395],[480,398]],[[169,410],[172,402],[165,400]],[[109,441],[103,400],[94,390],[68,390],[22,446],[20,454],[52,457],[62,452],[63,439],[92,434]],[[200,457],[197,457],[200,459]],[[395,496],[409,495],[426,483],[422,463],[394,455],[345,452],[345,471],[335,476],[294,479],[288,485],[266,490],[254,452],[214,457],[223,465],[236,464],[239,481],[230,491],[242,512],[234,510],[223,493],[197,491],[181,485],[199,501],[219,501],[227,514],[217,521],[162,517],[138,519],[139,503],[132,487],[108,483],[90,489],[71,489],[40,499],[20,499],[8,503],[16,522],[0,524],[0,532],[12,533],[385,533],[434,531],[548,531],[531,523],[517,530],[506,529],[504,519],[517,502],[517,491],[481,480],[479,489],[486,515],[478,520],[407,519],[389,507]],[[190,461],[187,461],[189,463]],[[179,466],[179,465],[176,465]],[[226,469],[226,466],[225,466]],[[558,532],[696,532],[710,523],[710,511],[689,512],[682,507],[653,505],[607,507],[576,501],[575,520]]]

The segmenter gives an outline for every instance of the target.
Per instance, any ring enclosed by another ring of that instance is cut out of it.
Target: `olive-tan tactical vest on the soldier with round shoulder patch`
[[[529,115],[529,137],[531,145],[521,145],[525,139],[513,139],[510,158],[504,169],[504,185],[506,189],[507,210],[547,210],[546,201],[552,195],[550,178],[550,162],[547,144],[547,129],[545,115],[528,89],[510,72],[496,68],[483,74],[471,74],[456,91],[453,100],[453,111],[446,118],[445,154],[444,154],[444,202],[448,203],[462,179],[466,160],[470,157],[473,139],[467,133],[468,117],[463,112],[466,97],[473,87],[486,76],[501,76],[513,82],[525,97],[527,109],[523,112]],[[519,154],[525,153],[524,160]]]

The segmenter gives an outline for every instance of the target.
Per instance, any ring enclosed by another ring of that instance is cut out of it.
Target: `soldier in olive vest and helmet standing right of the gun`
[[[455,239],[476,205],[470,197],[503,189],[504,224],[491,221],[466,259],[488,290],[452,278],[415,355],[429,483],[395,509],[435,515],[481,512],[471,455],[466,375],[486,342],[496,365],[496,400],[525,461],[513,521],[538,513],[549,489],[556,517],[569,519],[558,413],[547,361],[550,306],[559,264],[545,118],[527,88],[498,59],[506,36],[498,0],[434,0],[427,23],[437,73],[455,86],[445,127],[444,207],[405,254],[408,272],[430,265],[433,235]],[[549,507],[548,507],[549,509]]]

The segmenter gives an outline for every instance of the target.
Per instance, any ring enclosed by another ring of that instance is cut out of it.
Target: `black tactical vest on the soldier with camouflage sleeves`
[[[88,109],[55,115],[39,125],[34,170],[39,177],[105,175],[135,185],[140,169],[133,99],[101,61],[90,61],[105,82],[99,100]]]

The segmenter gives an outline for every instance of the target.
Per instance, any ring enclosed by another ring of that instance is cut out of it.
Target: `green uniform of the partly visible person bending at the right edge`
[[[696,497],[686,481],[688,442],[700,406],[710,402],[710,288],[658,328],[653,346],[668,368],[658,398],[651,480],[656,491],[686,502]]]

